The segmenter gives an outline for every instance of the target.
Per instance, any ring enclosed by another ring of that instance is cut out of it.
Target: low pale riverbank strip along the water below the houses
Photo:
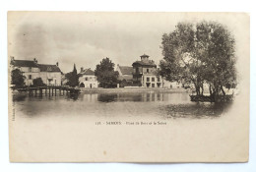
[[[175,92],[175,93],[189,93],[189,89],[185,88],[161,88],[161,87],[115,87],[115,88],[80,88],[82,93],[111,93],[111,92],[122,92],[122,93],[129,93],[129,92]]]

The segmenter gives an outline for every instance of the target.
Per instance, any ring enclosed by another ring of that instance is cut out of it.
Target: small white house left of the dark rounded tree
[[[81,68],[81,72],[79,73],[79,86],[93,88],[98,86],[98,82],[96,80],[95,72],[89,69]]]

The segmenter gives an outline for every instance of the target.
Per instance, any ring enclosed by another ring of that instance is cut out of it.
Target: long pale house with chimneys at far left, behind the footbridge
[[[42,82],[47,86],[61,86],[61,71],[56,65],[38,64],[37,60],[15,60],[11,59],[12,69],[20,69],[26,77],[25,85],[32,86],[32,80],[41,78]]]

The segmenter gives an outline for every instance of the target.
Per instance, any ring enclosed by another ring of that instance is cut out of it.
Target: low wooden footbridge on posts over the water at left
[[[70,87],[70,86],[37,86],[37,87],[24,87],[17,88],[18,91],[26,91],[29,92],[30,95],[49,95],[56,96],[66,94],[78,94],[80,93],[80,88]]]

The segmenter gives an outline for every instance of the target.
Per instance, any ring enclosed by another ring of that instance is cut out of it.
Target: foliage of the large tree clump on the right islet
[[[179,23],[162,35],[161,44],[160,75],[166,80],[193,84],[197,94],[204,84],[211,95],[236,86],[234,39],[223,25]]]

